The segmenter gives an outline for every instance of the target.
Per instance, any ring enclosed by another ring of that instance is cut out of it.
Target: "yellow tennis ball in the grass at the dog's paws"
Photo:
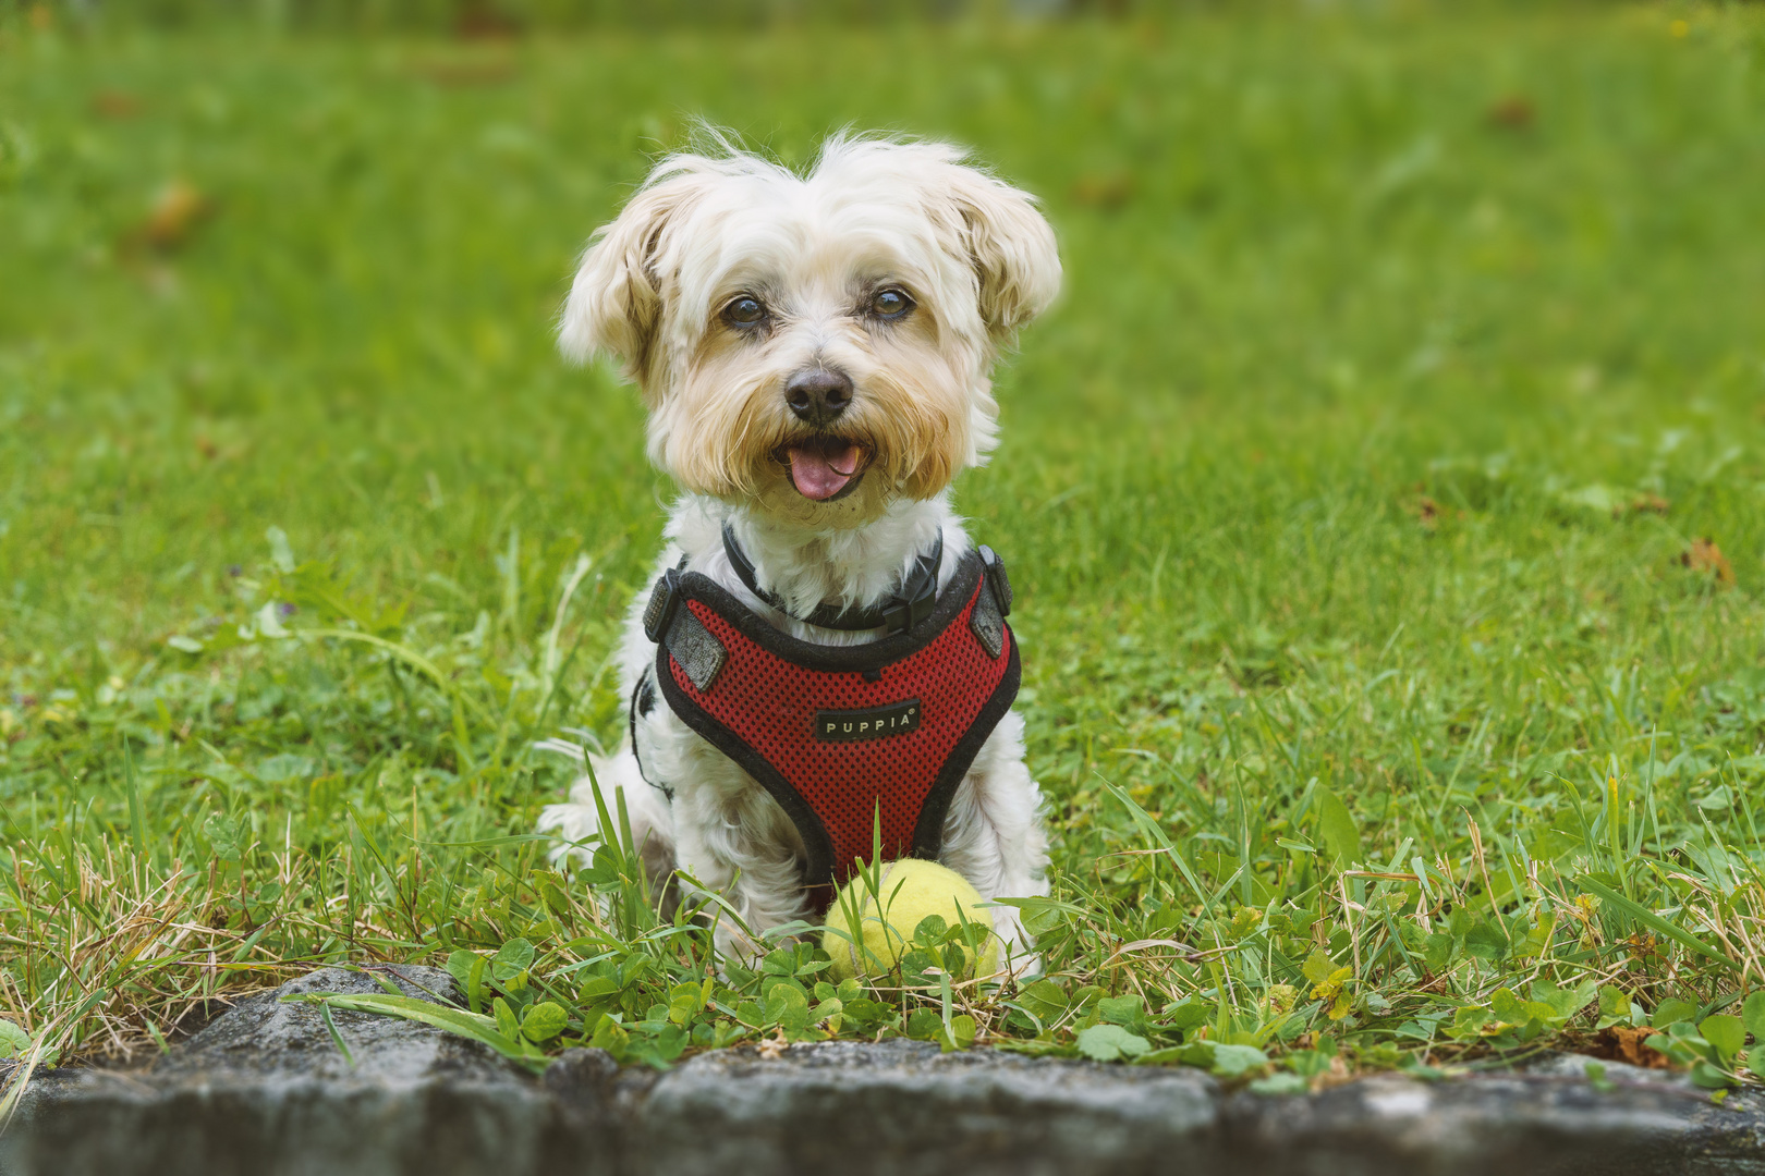
[[[874,887],[872,883],[881,876]],[[847,922],[851,913],[858,915],[863,926],[863,947],[877,963],[852,942],[860,936]],[[962,920],[980,924],[987,929],[987,943],[980,950],[980,968],[973,964],[974,950],[964,947],[971,968],[965,973],[994,975],[999,970],[999,938],[992,934],[992,910],[981,906],[981,896],[969,885],[969,880],[937,862],[921,862],[907,857],[898,862],[886,862],[881,869],[865,867],[840,889],[828,912],[828,933],[821,936],[821,947],[833,957],[833,977],[844,980],[851,975],[867,973],[877,966],[893,968],[914,927],[927,915],[939,915],[946,924],[957,926]],[[842,934],[851,938],[842,938]]]

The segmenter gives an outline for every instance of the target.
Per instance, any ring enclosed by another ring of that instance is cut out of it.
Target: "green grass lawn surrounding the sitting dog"
[[[657,1063],[905,1031],[1281,1088],[1656,1021],[1744,1077],[1765,18],[1350,9],[0,18],[0,1051],[452,959],[487,1017],[455,1028],[517,1054],[522,1016]],[[950,987],[937,945],[867,993],[807,945],[718,977],[614,848],[570,882],[524,839],[570,776],[531,742],[620,733],[671,494],[551,321],[688,115],[787,160],[951,136],[1047,197],[1066,293],[958,487],[1020,594],[1047,982]],[[171,183],[203,213],[155,240]]]

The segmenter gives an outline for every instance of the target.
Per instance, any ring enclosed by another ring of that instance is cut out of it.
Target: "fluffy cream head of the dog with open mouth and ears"
[[[983,460],[997,349],[1059,282],[1033,197],[950,145],[683,153],[590,242],[561,342],[642,386],[685,488],[849,527]]]

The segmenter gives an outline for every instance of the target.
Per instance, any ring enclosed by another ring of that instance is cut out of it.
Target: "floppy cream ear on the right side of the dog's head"
[[[1061,293],[1061,250],[1036,197],[973,167],[955,167],[951,197],[980,279],[987,331],[1010,340]]]

